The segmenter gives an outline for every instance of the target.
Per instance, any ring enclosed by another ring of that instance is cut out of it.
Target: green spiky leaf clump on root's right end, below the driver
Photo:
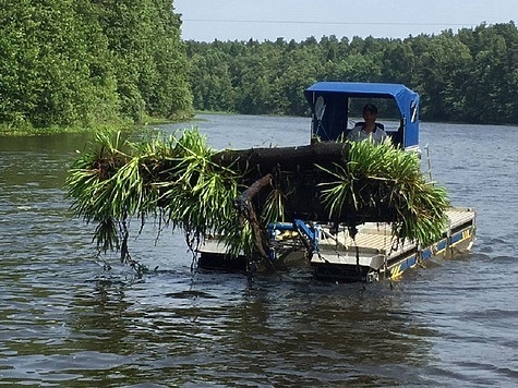
[[[322,199],[330,219],[344,208],[359,211],[395,209],[393,235],[423,246],[437,241],[446,227],[449,201],[445,189],[426,182],[415,154],[395,148],[386,141],[350,143],[349,156],[336,169],[323,169],[335,181],[322,183]]]

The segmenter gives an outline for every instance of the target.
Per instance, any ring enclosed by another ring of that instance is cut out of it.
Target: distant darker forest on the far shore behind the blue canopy
[[[514,22],[406,39],[186,41],[197,110],[308,113],[315,81],[402,83],[429,121],[518,123],[518,29]]]

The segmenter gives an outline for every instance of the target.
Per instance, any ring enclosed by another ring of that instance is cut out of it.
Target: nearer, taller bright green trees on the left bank
[[[99,126],[192,114],[170,0],[1,0],[0,124]]]

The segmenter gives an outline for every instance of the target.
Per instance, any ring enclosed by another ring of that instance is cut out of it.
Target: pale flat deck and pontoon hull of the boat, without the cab
[[[347,228],[332,233],[328,227],[318,228],[317,250],[312,252],[310,263],[317,278],[358,281],[374,276],[375,279],[394,278],[406,268],[432,256],[453,256],[457,251],[469,250],[474,239],[475,211],[471,208],[450,208],[446,211],[448,227],[439,241],[430,246],[418,246],[406,241],[398,243],[391,235],[389,223],[364,223],[358,227],[356,239]],[[276,238],[281,263],[308,259],[308,251],[297,231],[285,231]],[[207,239],[198,248],[202,268],[244,268],[245,258],[229,257],[226,244],[217,239]]]

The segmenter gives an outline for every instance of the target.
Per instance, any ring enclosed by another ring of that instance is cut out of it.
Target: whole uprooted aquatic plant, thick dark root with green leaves
[[[96,223],[98,247],[120,250],[122,260],[131,218],[181,229],[192,250],[215,235],[231,255],[266,258],[270,222],[386,221],[395,239],[426,244],[441,237],[448,206],[418,156],[389,142],[216,151],[195,129],[138,142],[99,133],[67,185],[75,215]]]

